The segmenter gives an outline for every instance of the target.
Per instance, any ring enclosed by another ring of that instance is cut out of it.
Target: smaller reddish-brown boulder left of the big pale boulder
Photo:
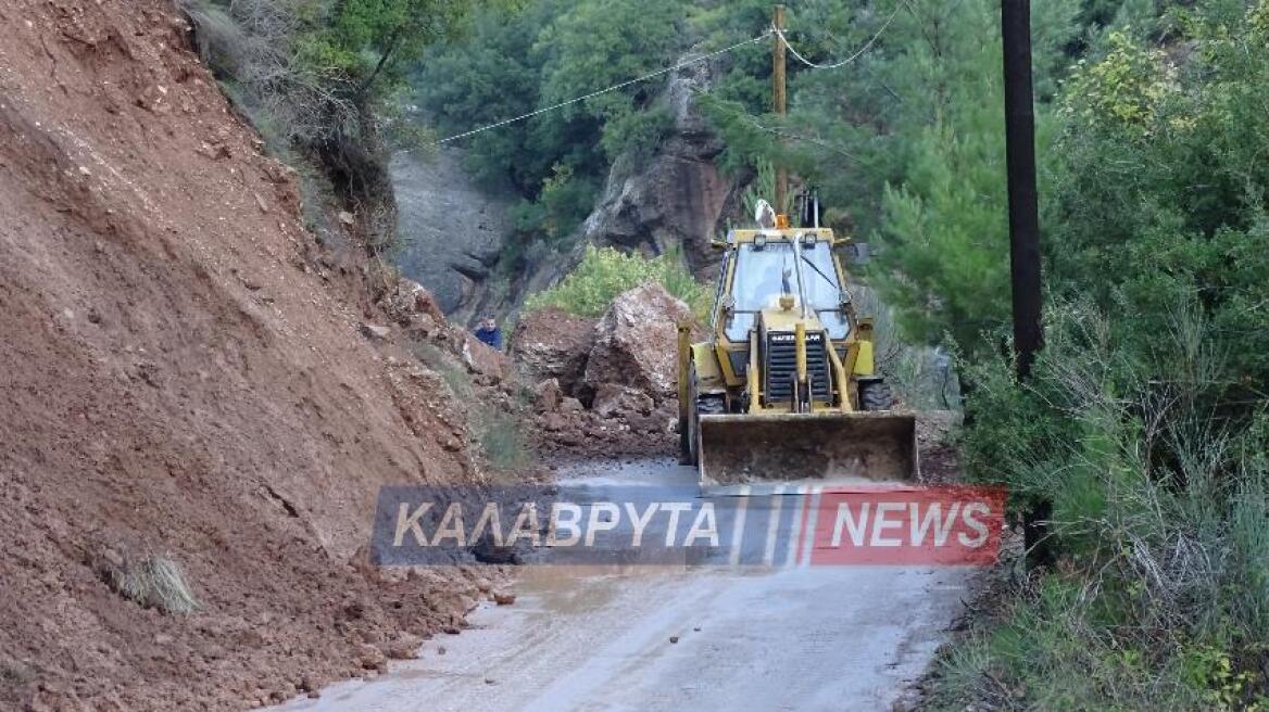
[[[533,380],[555,379],[566,395],[576,397],[595,343],[595,319],[570,317],[556,309],[525,314],[511,343],[513,357]]]

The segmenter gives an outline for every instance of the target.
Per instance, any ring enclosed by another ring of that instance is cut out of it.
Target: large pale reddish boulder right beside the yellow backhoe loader
[[[599,394],[605,384],[637,389],[657,403],[675,397],[678,324],[692,310],[660,285],[622,294],[595,326],[585,385]]]

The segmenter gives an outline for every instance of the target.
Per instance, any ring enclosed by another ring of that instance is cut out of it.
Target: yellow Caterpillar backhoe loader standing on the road
[[[873,371],[872,321],[835,250],[849,239],[758,219],[716,243],[711,338],[679,328],[683,462],[703,485],[914,478],[916,419]]]

